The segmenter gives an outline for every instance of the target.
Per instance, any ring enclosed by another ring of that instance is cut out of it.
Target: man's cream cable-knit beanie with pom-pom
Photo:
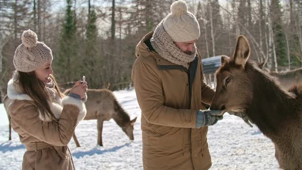
[[[200,36],[200,27],[196,17],[188,11],[184,1],[176,1],[170,7],[171,12],[164,18],[164,29],[173,41],[192,41]]]

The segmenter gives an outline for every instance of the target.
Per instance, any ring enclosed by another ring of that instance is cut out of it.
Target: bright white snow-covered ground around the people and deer
[[[130,141],[113,121],[103,125],[103,147],[97,146],[96,120],[81,121],[76,135],[69,143],[76,169],[142,169],[142,139],[140,108],[135,91],[116,91],[116,98],[131,119],[136,116],[134,141]],[[228,114],[208,132],[211,169],[278,169],[273,143],[255,126],[250,128],[242,119]],[[18,135],[12,133],[8,141],[8,120],[0,104],[0,169],[21,169],[25,147]]]

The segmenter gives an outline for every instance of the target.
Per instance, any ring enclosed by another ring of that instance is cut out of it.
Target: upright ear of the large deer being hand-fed
[[[244,68],[249,56],[250,45],[248,43],[248,40],[245,36],[240,35],[237,39],[233,60],[235,61],[236,65],[241,65]]]

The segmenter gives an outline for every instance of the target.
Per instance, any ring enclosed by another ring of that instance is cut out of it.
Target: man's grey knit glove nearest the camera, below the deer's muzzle
[[[199,110],[197,112],[196,128],[201,126],[209,126],[217,123],[218,120],[222,120],[223,116],[219,110]]]

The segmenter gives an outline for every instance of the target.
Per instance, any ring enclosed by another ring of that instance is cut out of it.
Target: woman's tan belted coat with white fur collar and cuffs
[[[9,105],[12,128],[27,148],[22,169],[74,169],[67,144],[86,115],[84,102],[69,96],[49,102],[56,122],[42,117],[33,99],[21,93],[13,79],[8,82],[7,95],[13,100]]]

